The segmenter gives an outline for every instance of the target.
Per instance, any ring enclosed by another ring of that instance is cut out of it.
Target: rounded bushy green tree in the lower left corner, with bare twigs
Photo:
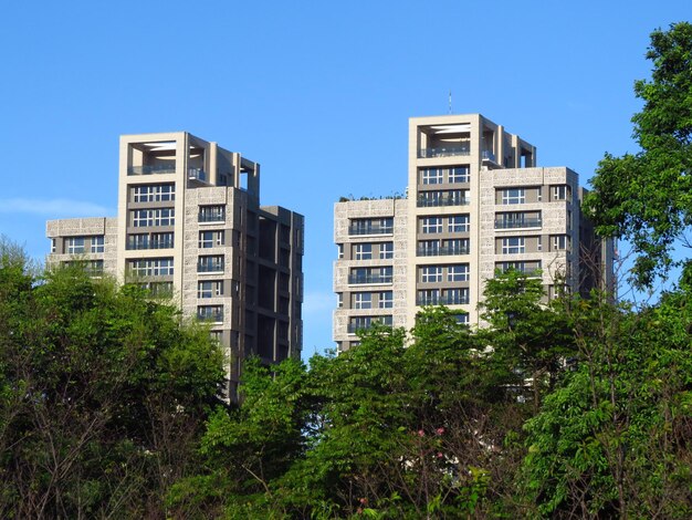
[[[221,354],[179,312],[0,248],[0,513],[160,516],[217,403]]]

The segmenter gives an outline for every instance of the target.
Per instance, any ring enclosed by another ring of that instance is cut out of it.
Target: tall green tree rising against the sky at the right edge
[[[678,241],[690,247],[692,225],[692,24],[651,34],[651,81],[635,83],[644,103],[632,117],[640,152],[606,154],[586,207],[605,236],[628,239],[639,253],[636,280],[650,284],[675,263]]]

